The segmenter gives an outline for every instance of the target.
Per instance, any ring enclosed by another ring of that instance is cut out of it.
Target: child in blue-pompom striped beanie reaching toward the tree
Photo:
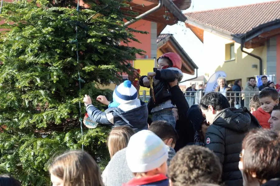
[[[83,101],[87,115],[93,122],[112,127],[127,125],[136,132],[148,129],[147,104],[137,98],[137,90],[130,81],[126,80],[115,88],[113,102],[109,102],[105,96],[98,96],[96,100],[109,108],[104,112],[100,111],[92,105],[91,98],[85,95]]]

